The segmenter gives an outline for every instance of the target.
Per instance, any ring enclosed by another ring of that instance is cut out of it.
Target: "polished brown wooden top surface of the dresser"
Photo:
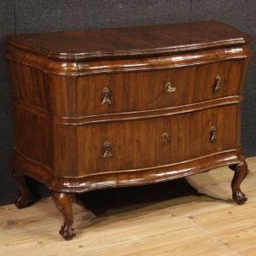
[[[15,47],[61,60],[160,55],[244,44],[246,41],[249,41],[247,33],[214,20],[83,32],[51,32],[9,38],[9,43]]]

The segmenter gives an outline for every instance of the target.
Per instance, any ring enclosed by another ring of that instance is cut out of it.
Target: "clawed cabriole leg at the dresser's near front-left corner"
[[[63,224],[61,226],[60,234],[64,239],[72,240],[73,236],[76,236],[76,232],[73,227],[73,195],[55,192],[53,200],[55,201],[55,206],[63,216]]]

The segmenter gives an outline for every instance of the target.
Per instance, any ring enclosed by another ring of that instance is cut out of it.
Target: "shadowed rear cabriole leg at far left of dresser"
[[[12,169],[11,175],[12,177],[14,177],[15,183],[20,189],[20,194],[15,200],[15,206],[19,209],[31,206],[32,203],[35,201],[35,198],[32,196],[31,192],[27,188],[24,175],[15,168]]]

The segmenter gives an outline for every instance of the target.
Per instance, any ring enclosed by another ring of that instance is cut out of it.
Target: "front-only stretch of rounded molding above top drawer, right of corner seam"
[[[191,67],[213,62],[245,58],[247,58],[247,55],[245,55],[242,47],[234,47],[196,51],[195,53],[164,55],[157,58],[150,57],[131,60],[78,62],[78,66],[79,75],[88,75],[96,73],[123,73]]]

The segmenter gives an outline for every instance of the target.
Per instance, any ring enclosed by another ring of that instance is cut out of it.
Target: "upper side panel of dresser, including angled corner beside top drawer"
[[[48,73],[40,67],[9,60],[14,101],[50,115],[76,116],[77,77]]]

